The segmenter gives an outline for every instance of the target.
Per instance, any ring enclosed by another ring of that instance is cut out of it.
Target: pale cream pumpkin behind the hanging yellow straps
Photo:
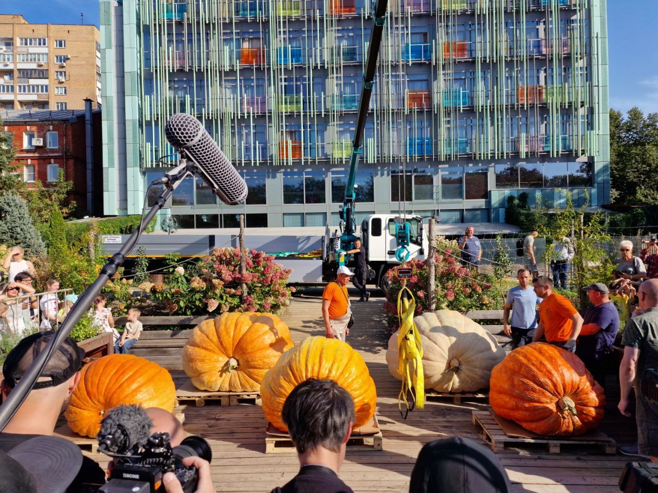
[[[492,368],[505,358],[505,350],[488,331],[453,310],[426,312],[414,322],[422,340],[425,388],[474,392],[489,386]],[[391,375],[401,380],[397,356],[396,332],[388,340],[386,362]]]

